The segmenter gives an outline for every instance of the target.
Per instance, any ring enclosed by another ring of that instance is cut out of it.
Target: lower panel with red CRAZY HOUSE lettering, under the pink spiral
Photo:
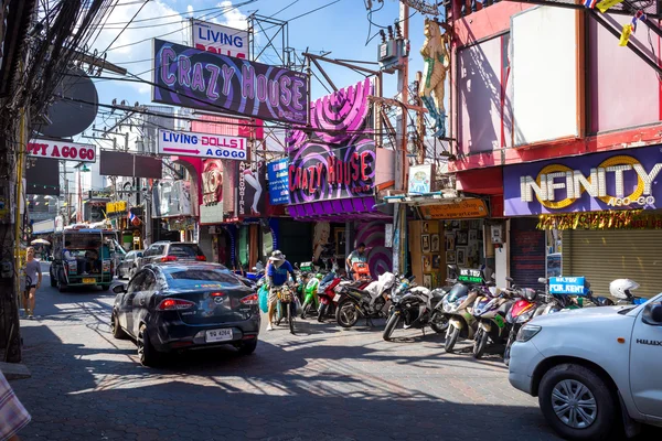
[[[372,142],[340,149],[308,144],[290,155],[291,203],[371,195],[375,158]]]

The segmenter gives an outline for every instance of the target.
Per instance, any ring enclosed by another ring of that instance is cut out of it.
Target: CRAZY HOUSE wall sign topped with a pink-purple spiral
[[[288,138],[291,204],[373,194],[372,94],[373,84],[365,79],[312,103],[310,120],[318,130],[310,137],[295,131]]]

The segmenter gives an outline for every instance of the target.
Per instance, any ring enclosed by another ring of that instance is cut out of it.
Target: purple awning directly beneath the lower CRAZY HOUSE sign
[[[374,196],[316,201],[289,205],[287,209],[296,220],[351,222],[393,218],[393,215],[377,209]]]

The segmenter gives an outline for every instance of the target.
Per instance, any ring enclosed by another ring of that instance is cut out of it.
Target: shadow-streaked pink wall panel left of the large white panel
[[[500,149],[511,138],[511,118],[502,132],[508,35],[458,52],[459,151],[463,154]]]

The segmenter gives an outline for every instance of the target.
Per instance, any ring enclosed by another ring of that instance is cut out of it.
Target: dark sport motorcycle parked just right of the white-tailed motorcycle
[[[391,297],[392,305],[388,311],[388,321],[382,337],[391,340],[393,331],[402,321],[404,329],[425,330],[430,326],[433,331],[442,333],[448,326],[448,321],[441,311],[441,303],[447,289],[437,288],[429,290],[413,283],[414,278],[403,279],[401,286]]]

